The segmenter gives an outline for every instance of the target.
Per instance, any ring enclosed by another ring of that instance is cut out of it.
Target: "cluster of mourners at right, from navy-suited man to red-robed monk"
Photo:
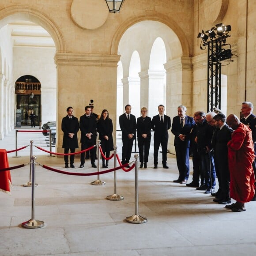
[[[214,202],[232,211],[245,211],[245,203],[256,200],[256,117],[252,111],[252,103],[243,102],[241,120],[234,114],[226,118],[219,109],[207,114],[197,111],[192,118],[186,115],[185,106],[179,106],[172,124],[179,177],[173,182],[211,194]],[[189,156],[191,183],[187,183]],[[219,188],[215,192],[216,177]],[[236,202],[229,205],[231,198]]]

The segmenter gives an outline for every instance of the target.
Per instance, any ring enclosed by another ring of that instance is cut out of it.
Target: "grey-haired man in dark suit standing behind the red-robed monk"
[[[253,104],[251,102],[243,102],[241,106],[241,114],[244,116],[241,118],[241,123],[245,124],[252,130],[252,141],[254,146],[254,154],[256,154],[256,116],[252,114]],[[252,163],[254,176],[256,177],[256,158]],[[256,185],[256,184],[255,184]],[[256,201],[256,193],[252,199]]]

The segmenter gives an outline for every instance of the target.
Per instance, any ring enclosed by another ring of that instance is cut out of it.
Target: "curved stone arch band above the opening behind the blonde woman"
[[[186,57],[192,56],[192,53],[189,52],[186,35],[184,34],[183,30],[181,30],[180,26],[178,26],[178,24],[174,22],[173,19],[170,19],[170,17],[167,17],[165,15],[158,16],[157,13],[155,13],[155,15],[132,17],[130,19],[125,20],[123,23],[121,23],[120,26],[117,28],[116,33],[113,36],[110,53],[117,54],[120,39],[122,38],[124,32],[128,30],[129,27],[131,27],[135,23],[139,23],[145,20],[158,21],[165,24],[166,26],[169,26],[169,28],[173,30],[173,32],[177,35],[177,38],[181,43],[182,56],[186,56]]]

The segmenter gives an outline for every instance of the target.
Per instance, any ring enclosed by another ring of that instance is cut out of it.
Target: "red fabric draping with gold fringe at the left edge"
[[[8,168],[9,162],[5,149],[0,149],[0,169]],[[0,191],[11,191],[11,173],[10,170],[0,172]]]

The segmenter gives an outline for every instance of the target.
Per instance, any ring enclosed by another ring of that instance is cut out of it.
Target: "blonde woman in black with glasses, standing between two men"
[[[147,108],[141,109],[141,117],[137,118],[137,137],[139,146],[139,168],[147,168],[148,154],[151,142],[151,117],[147,117]]]

